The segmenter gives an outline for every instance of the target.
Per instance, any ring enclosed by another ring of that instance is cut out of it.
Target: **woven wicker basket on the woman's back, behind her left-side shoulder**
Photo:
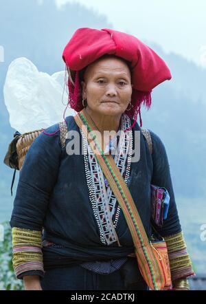
[[[16,142],[16,152],[19,158],[19,170],[23,166],[23,162],[25,160],[25,155],[27,151],[30,149],[32,142],[34,142],[35,138],[42,132],[42,129],[23,133],[19,140]]]

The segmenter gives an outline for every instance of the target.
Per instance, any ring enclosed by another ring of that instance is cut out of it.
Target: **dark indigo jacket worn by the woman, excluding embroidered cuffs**
[[[76,130],[80,134],[74,118],[67,116],[66,120],[69,122],[69,130]],[[52,133],[56,129],[58,124],[45,131]],[[140,130],[137,122],[134,130]],[[159,229],[164,237],[180,232],[181,225],[165,147],[157,134],[152,131],[150,133],[152,155],[146,138],[141,133],[140,159],[131,162],[128,188],[148,237],[152,233],[150,184],[167,188],[170,208],[163,228]],[[67,139],[66,144],[68,141]],[[82,148],[82,142],[80,147]],[[55,254],[61,254],[62,260],[69,264],[95,259],[118,259],[134,252],[133,239],[122,210],[116,228],[122,247],[118,247],[117,243],[107,246],[100,241],[98,224],[89,201],[84,155],[67,155],[66,148],[62,149],[60,144],[60,132],[51,136],[41,133],[30,146],[20,171],[10,226],[31,230],[44,228],[43,240],[65,246],[65,249],[43,248],[46,267],[56,263]]]

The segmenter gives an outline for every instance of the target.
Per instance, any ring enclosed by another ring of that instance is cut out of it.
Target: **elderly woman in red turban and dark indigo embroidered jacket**
[[[27,152],[10,220],[16,278],[23,279],[25,290],[149,290],[142,269],[148,263],[153,283],[157,274],[150,259],[144,262],[149,249],[135,251],[137,238],[122,197],[133,201],[131,218],[137,208],[137,223],[150,239],[155,226],[153,184],[170,196],[168,215],[162,226],[155,227],[168,247],[171,287],[188,290],[187,276],[194,272],[165,147],[152,131],[149,144],[141,129],[141,103],[150,107],[152,89],[170,80],[170,70],[134,36],[108,29],[78,29],[63,59],[69,72],[69,105],[78,114],[45,129]],[[91,148],[83,123],[98,135],[95,143],[101,155]],[[113,131],[111,138],[105,131]],[[71,153],[72,144],[76,146],[71,134],[80,138],[80,151],[76,147],[75,153]],[[137,150],[139,158],[133,161]],[[105,156],[110,153],[112,160]],[[113,166],[108,172],[106,163]],[[125,187],[122,197],[116,184]]]

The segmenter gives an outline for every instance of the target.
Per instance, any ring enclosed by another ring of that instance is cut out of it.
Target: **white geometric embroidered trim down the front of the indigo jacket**
[[[121,118],[121,130],[128,127],[130,127],[130,118],[126,114],[123,114]],[[117,241],[115,228],[119,219],[120,206],[111,187],[108,185],[106,189],[105,177],[98,164],[98,160],[95,158],[91,146],[89,146],[87,138],[81,129],[80,132],[83,139],[84,168],[89,188],[89,199],[100,230],[100,240],[102,243],[110,245]],[[132,149],[133,131],[121,132],[114,160],[122,176],[125,175],[124,180],[126,183],[130,175]]]

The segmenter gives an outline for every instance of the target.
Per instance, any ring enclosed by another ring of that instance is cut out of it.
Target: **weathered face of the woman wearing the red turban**
[[[102,115],[122,115],[132,95],[128,65],[120,58],[100,58],[84,72],[82,98],[87,106]]]

